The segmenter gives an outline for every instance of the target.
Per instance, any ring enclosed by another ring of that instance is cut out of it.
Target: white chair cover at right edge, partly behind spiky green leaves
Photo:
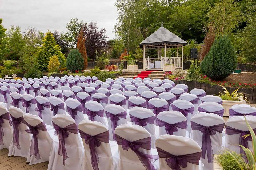
[[[256,116],[245,116],[246,120],[250,124],[251,128],[254,129],[256,128]],[[241,131],[241,133],[237,134],[228,134],[227,128],[231,127],[234,129],[237,129],[238,131]],[[245,118],[243,116],[233,116],[229,118],[225,124],[225,129],[226,129],[226,135],[225,135],[225,144],[224,144],[224,149],[229,149],[231,151],[236,152],[237,154],[241,154],[240,147],[238,146],[239,141],[245,141],[243,138],[241,139],[241,135],[245,134],[250,134],[249,129],[247,127],[247,124],[245,122]],[[245,133],[244,133],[245,132]],[[245,141],[246,142],[246,141]],[[253,146],[252,146],[252,141],[248,141],[248,148],[253,151]],[[242,154],[244,155],[245,153],[242,151]]]

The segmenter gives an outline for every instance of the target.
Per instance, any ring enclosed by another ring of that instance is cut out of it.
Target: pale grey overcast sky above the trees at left
[[[106,28],[109,39],[114,39],[117,19],[115,0],[0,0],[0,18],[3,26],[35,27],[43,32],[66,31],[70,18],[84,22],[94,21]]]

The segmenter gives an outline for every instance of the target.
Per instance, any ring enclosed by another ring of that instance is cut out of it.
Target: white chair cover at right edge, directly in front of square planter
[[[253,106],[251,107],[249,104],[236,104],[230,107],[229,117],[243,115],[256,116],[256,108]]]

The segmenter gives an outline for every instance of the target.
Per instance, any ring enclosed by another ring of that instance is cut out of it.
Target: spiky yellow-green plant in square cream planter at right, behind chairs
[[[229,109],[236,104],[246,104],[248,102],[247,97],[243,93],[239,93],[238,89],[230,93],[225,87],[221,86],[223,91],[219,92],[218,96],[223,100],[222,106],[224,107],[224,115],[229,116]]]

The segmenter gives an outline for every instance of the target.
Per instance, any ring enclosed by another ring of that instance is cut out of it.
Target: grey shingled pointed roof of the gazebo
[[[154,46],[163,46],[164,43],[171,46],[177,45],[187,45],[187,42],[182,40],[180,37],[163,27],[163,23],[161,27],[157,29],[153,34],[143,40],[139,46],[143,45],[154,45]]]

